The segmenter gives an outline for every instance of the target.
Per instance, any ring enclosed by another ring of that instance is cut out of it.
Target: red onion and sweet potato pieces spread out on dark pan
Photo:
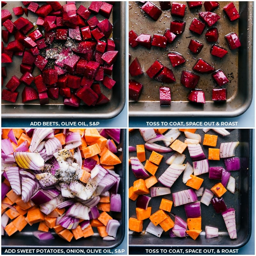
[[[240,158],[235,157],[239,142],[228,137],[232,131],[203,129],[201,136],[196,129],[139,129],[140,133],[134,130],[129,154],[135,181],[132,184],[134,179],[129,179],[129,198],[136,201],[137,219],[130,216],[129,229],[157,237],[190,236],[194,240],[204,229],[206,239],[218,237],[218,223],[202,219],[209,213],[201,211],[209,207],[210,212],[222,215],[230,238],[235,239],[236,218],[232,208],[235,201],[225,203],[222,198],[225,193],[235,194],[236,178],[232,174],[242,170]],[[208,141],[204,140],[204,133],[212,134],[211,139],[207,136]],[[216,139],[216,133],[223,142],[211,141]],[[138,138],[140,135],[144,143]],[[142,143],[145,158],[141,158],[141,151],[135,150],[136,144]],[[208,148],[219,150],[216,158],[220,160],[212,160]],[[206,179],[212,185],[205,185]]]

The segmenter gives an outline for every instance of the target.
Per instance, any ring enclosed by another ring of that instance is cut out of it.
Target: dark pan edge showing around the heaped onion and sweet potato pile
[[[75,240],[74,238],[71,242],[60,238],[53,231],[52,234],[54,239],[52,240],[38,240],[34,235],[33,231],[38,228],[38,223],[32,226],[27,225],[21,232],[16,232],[11,237],[6,234],[2,236],[2,250],[4,248],[114,248],[120,245],[124,240],[125,235],[125,180],[126,180],[126,130],[121,129],[120,144],[118,145],[117,156],[121,159],[122,163],[116,165],[115,172],[120,175],[120,184],[118,193],[121,195],[122,199],[122,209],[121,212],[109,212],[109,214],[120,223],[120,227],[117,230],[116,239],[114,241],[104,241],[102,237],[99,236],[97,228],[93,228],[94,235],[87,238],[80,238]]]

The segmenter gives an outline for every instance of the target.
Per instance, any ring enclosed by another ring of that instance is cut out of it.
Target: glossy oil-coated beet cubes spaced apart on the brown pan
[[[185,16],[186,4],[176,3],[170,1],[159,2],[160,8],[158,8],[155,4],[151,2],[143,2],[144,4],[141,6],[141,10],[144,11],[149,17],[153,20],[158,20],[162,14],[163,10],[170,10],[170,13],[173,17],[183,18]],[[203,2],[191,1],[187,2],[188,9],[192,8],[200,8],[203,6]],[[189,26],[189,30],[192,33],[197,35],[202,35],[204,32],[204,28],[208,27],[205,38],[207,42],[212,42],[212,48],[210,53],[213,56],[223,58],[228,51],[216,44],[218,41],[219,33],[218,28],[213,27],[218,20],[220,20],[220,16],[214,13],[213,11],[219,7],[218,2],[207,1],[204,2],[205,12],[199,12],[198,17],[194,18]],[[236,10],[236,7],[233,2],[230,2],[225,7],[223,7],[223,11],[227,14],[229,20],[232,22],[237,20],[240,15]],[[154,34],[153,37],[150,34],[140,34],[134,30],[129,32],[129,45],[134,48],[138,45],[146,47],[150,49],[151,46],[166,48],[167,44],[171,44],[176,37],[182,34],[185,30],[186,22],[183,20],[172,20],[170,23],[170,28],[165,30],[164,35]],[[241,46],[239,38],[236,33],[229,33],[225,36],[228,47],[230,50],[235,50]],[[203,44],[198,41],[191,39],[188,45],[188,49],[198,54],[203,48]],[[129,57],[131,57],[129,55]],[[168,58],[172,64],[172,67],[177,67],[186,62],[185,58],[179,52],[169,52]],[[196,64],[192,68],[193,71],[200,74],[212,74],[212,77],[216,84],[219,86],[218,88],[212,89],[212,100],[213,101],[226,101],[227,100],[227,91],[226,88],[221,88],[222,85],[229,83],[227,76],[224,74],[222,69],[215,69],[212,65],[204,61],[202,58],[198,58]],[[137,57],[132,61],[129,66],[129,73],[132,77],[139,76],[144,73],[140,66],[140,62]],[[175,82],[174,73],[170,68],[165,67],[159,60],[156,60],[149,68],[146,70],[147,75],[151,79],[155,79],[161,83],[173,83]],[[202,89],[196,88],[196,85],[199,81],[200,76],[194,74],[189,70],[182,70],[180,83],[185,87],[190,89],[188,93],[187,99],[196,103],[205,103],[204,91]],[[134,79],[129,80],[129,97],[131,100],[138,101],[141,95],[143,88],[143,84],[139,83]],[[160,95],[160,105],[161,106],[170,106],[171,105],[171,90],[168,86],[160,86],[159,87],[159,95]]]

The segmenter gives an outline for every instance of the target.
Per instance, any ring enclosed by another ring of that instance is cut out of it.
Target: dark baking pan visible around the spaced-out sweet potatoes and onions
[[[196,133],[199,133],[204,138],[204,132],[201,129],[197,129]],[[209,134],[215,134],[213,131],[209,131]],[[179,140],[184,141],[184,133],[181,132]],[[236,210],[236,229],[237,229],[237,239],[230,239],[228,236],[228,232],[224,223],[224,220],[220,214],[215,213],[212,205],[206,206],[201,204],[201,214],[202,214],[202,232],[194,241],[190,237],[186,238],[170,238],[168,232],[163,232],[162,236],[159,238],[157,236],[151,235],[149,233],[137,233],[129,230],[129,246],[131,247],[143,247],[149,248],[150,246],[160,246],[160,247],[240,247],[246,244],[251,236],[252,230],[252,216],[251,216],[251,203],[252,203],[252,130],[250,129],[237,129],[230,131],[230,135],[226,137],[218,136],[217,146],[220,147],[221,142],[230,142],[230,141],[239,141],[239,145],[236,148],[236,156],[240,157],[243,160],[243,168],[240,171],[232,171],[231,175],[236,179],[236,190],[235,194],[227,191],[223,195],[223,199],[227,205],[227,207],[233,207]],[[138,130],[129,133],[129,146],[135,146],[137,144],[144,144],[144,140],[140,136],[140,132]],[[208,147],[204,146],[203,150],[208,158]],[[146,159],[149,158],[151,152],[146,150]],[[188,150],[184,151],[186,155],[186,161],[192,164],[191,158],[188,154]],[[158,170],[156,171],[156,178],[158,178],[169,165],[165,164],[165,160],[172,155],[171,153],[163,154],[164,158],[161,161]],[[136,152],[130,152],[129,157],[136,156]],[[143,165],[145,163],[143,162]],[[223,166],[224,163],[222,160],[220,161],[209,161],[210,166]],[[248,168],[247,168],[248,167]],[[212,188],[214,184],[219,182],[218,180],[209,180],[208,174],[200,175],[201,178],[204,179],[202,186],[204,188]],[[132,186],[134,180],[136,180],[135,176],[132,173],[131,167],[129,168],[129,187]],[[157,183],[154,186],[162,186]],[[188,189],[182,182],[182,174],[181,176],[174,182],[171,187],[171,192],[177,192],[183,189]],[[171,195],[165,195],[164,198],[172,200]],[[152,213],[156,212],[159,209],[159,205],[161,202],[162,196],[153,197],[149,201],[149,205],[152,207]],[[199,197],[200,200],[200,197]],[[129,199],[129,217],[136,218],[136,201],[132,201]],[[184,210],[184,206],[172,206],[172,213],[177,214],[184,220],[186,220],[186,214]],[[143,230],[146,229],[149,220],[144,220]],[[212,239],[205,238],[204,227],[205,225],[213,225],[219,228],[219,237],[215,237]]]

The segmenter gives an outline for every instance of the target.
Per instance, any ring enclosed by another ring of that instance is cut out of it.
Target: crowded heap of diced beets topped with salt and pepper
[[[88,8],[66,3],[22,2],[23,7],[12,9],[15,18],[9,10],[2,10],[2,63],[6,63],[2,84],[7,71],[14,73],[5,83],[2,100],[16,102],[17,88],[25,84],[22,102],[39,99],[44,105],[59,96],[64,105],[73,107],[81,100],[88,106],[109,102],[100,84],[111,89],[116,83],[111,75],[118,51],[109,38],[113,30],[109,17],[115,2],[94,1]],[[2,2],[2,7],[5,4]],[[29,12],[38,16],[36,26],[24,18],[23,14],[28,16]],[[8,70],[13,55],[20,56],[21,77],[15,70]],[[33,76],[35,68],[40,75]]]

